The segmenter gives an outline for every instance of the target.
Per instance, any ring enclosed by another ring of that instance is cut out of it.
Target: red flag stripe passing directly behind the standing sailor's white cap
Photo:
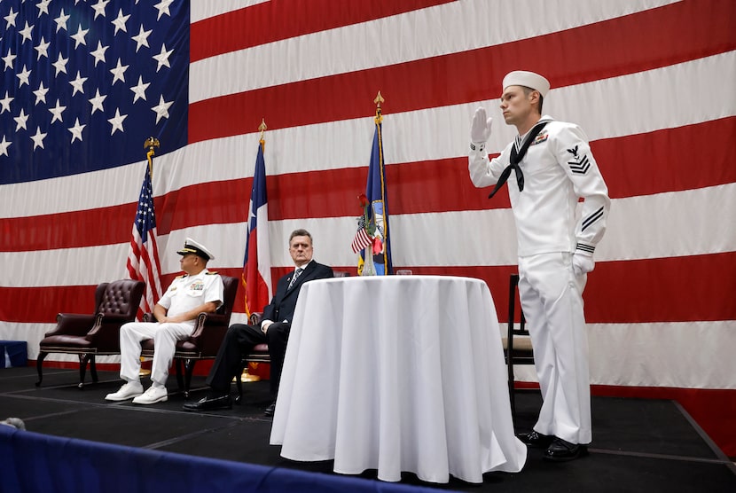
[[[377,87],[391,95],[391,113],[497,98],[505,72],[519,59],[555,88],[633,74],[731,51],[734,31],[731,3],[679,2],[513,43],[198,101],[190,105],[189,142],[246,134],[263,114],[272,129],[367,117],[365,95]],[[452,90],[436,90],[437,74]],[[325,98],[341,103],[325,105]]]

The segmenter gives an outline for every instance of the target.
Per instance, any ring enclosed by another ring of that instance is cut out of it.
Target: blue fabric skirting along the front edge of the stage
[[[429,493],[436,489],[197,458],[0,425],[0,493],[15,491]]]

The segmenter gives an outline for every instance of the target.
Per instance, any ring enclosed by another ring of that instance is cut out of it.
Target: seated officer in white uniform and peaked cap
[[[176,252],[185,274],[175,278],[161,300],[153,307],[157,322],[130,322],[120,330],[120,376],[126,383],[108,401],[153,404],[166,401],[168,368],[174,359],[176,341],[192,334],[201,312],[212,313],[223,303],[223,278],[207,270],[207,262],[215,256],[200,243],[186,239],[184,248]],[[141,341],[153,339],[155,351],[151,366],[151,387],[143,391],[140,382]]]

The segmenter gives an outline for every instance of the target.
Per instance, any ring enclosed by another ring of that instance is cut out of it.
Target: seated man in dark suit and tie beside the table
[[[265,414],[273,416],[276,408],[278,382],[281,380],[281,369],[286,354],[286,342],[289,340],[289,331],[301,286],[312,279],[333,277],[331,268],[312,261],[314,250],[312,235],[309,234],[309,231],[292,232],[289,237],[289,254],[294,260],[294,270],[278,279],[276,293],[270,304],[263,309],[261,323],[230,326],[217,352],[215,364],[207,376],[210,392],[196,403],[184,404],[185,411],[231,409],[231,381],[240,371],[243,355],[250,352],[255,345],[267,343],[270,353],[270,392],[274,400]]]

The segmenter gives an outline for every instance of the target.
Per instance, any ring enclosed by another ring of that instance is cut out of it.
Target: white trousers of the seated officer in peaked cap
[[[140,380],[141,341],[153,339],[156,350],[153,353],[151,380],[166,385],[168,368],[174,360],[176,341],[184,340],[192,334],[194,324],[159,324],[156,322],[129,322],[120,329],[120,376],[122,380]]]

